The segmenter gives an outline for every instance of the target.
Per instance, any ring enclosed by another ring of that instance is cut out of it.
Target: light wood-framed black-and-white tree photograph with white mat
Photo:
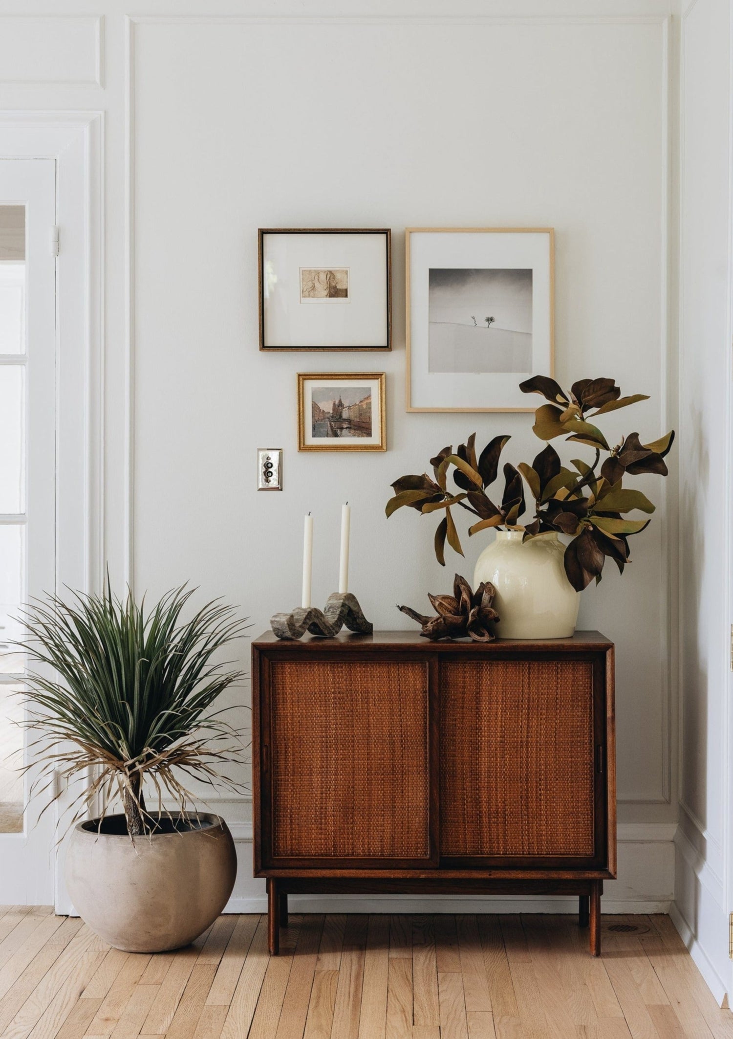
[[[405,232],[408,411],[534,411],[552,375],[551,228]]]

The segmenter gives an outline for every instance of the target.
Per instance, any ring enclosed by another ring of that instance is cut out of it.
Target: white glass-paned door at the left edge
[[[55,589],[52,159],[0,160],[0,903],[53,902],[54,811],[30,797],[21,611]],[[46,795],[48,796],[48,794]]]

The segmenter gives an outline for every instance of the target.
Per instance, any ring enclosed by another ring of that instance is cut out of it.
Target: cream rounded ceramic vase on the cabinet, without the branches
[[[522,531],[496,531],[476,564],[473,587],[490,581],[500,639],[562,639],[575,631],[580,593],[567,579],[565,545],[554,533],[522,542]]]

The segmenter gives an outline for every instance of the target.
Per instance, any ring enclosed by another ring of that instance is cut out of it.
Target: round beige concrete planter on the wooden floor
[[[174,817],[178,822],[178,817]],[[162,953],[197,938],[224,908],[237,852],[219,816],[187,815],[190,829],[128,836],[124,816],[79,823],[66,851],[66,886],[85,924],[115,949]]]

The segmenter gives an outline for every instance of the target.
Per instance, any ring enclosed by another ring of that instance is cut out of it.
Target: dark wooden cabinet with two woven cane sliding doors
[[[614,646],[377,632],[252,645],[254,876],[290,893],[577,895],[616,876]]]

